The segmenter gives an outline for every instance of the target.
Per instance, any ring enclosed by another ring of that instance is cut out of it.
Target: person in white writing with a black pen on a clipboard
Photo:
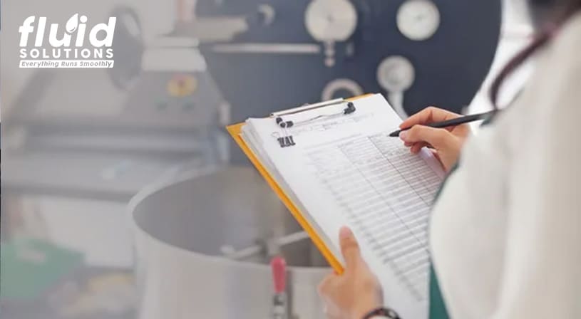
[[[500,73],[493,99],[528,58],[535,72],[478,135],[425,126],[458,116],[439,108],[401,123],[411,152],[430,147],[448,172],[428,230],[430,319],[581,318],[581,0],[541,2],[551,19]],[[344,273],[319,285],[327,316],[398,318],[354,234],[339,239]]]

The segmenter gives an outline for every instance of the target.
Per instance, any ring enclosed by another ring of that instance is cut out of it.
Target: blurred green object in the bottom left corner
[[[0,298],[26,302],[41,298],[83,263],[83,254],[38,239],[0,243]]]

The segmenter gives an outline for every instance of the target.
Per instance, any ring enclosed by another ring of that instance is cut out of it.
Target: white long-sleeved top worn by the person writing
[[[451,318],[581,318],[581,14],[520,95],[471,137],[431,251]]]

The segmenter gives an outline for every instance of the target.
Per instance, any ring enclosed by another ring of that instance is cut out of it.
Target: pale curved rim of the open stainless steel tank
[[[245,267],[253,267],[253,268],[256,268],[256,267],[270,268],[270,266],[266,265],[266,264],[247,263],[244,261],[234,261],[234,260],[228,259],[226,257],[205,255],[203,253],[197,253],[195,251],[183,249],[182,247],[170,245],[170,244],[166,243],[165,241],[161,241],[160,239],[156,238],[155,236],[149,234],[147,231],[142,229],[135,221],[135,218],[133,218],[133,216],[134,216],[133,213],[135,212],[135,209],[147,197],[150,197],[151,195],[159,192],[160,190],[164,189],[165,187],[179,184],[181,182],[186,182],[188,179],[192,179],[192,178],[196,178],[196,177],[204,177],[204,176],[207,176],[207,175],[210,175],[213,173],[220,172],[220,169],[222,169],[222,168],[225,168],[225,167],[220,167],[220,166],[208,167],[205,169],[200,169],[200,171],[188,172],[188,173],[186,173],[178,178],[175,178],[175,179],[170,179],[170,178],[161,179],[157,182],[153,182],[151,184],[148,184],[147,186],[143,187],[143,189],[141,189],[137,194],[135,194],[135,196],[133,196],[130,199],[129,203],[127,204],[126,213],[125,213],[125,218],[128,219],[128,224],[131,227],[131,233],[132,233],[131,237],[133,239],[133,242],[132,242],[133,247],[135,248],[135,243],[137,241],[136,237],[138,236],[138,234],[141,234],[142,236],[147,237],[148,239],[150,239],[151,241],[155,242],[156,244],[158,244],[160,246],[164,246],[170,250],[178,251],[180,253],[188,253],[188,254],[193,254],[195,256],[200,256],[200,257],[203,256],[204,258],[208,258],[212,261],[220,261],[222,263],[231,263],[231,264],[235,264],[237,266],[245,266]],[[134,255],[136,254],[136,249],[133,249],[133,253],[134,253]],[[135,258],[135,256],[134,256],[133,260],[136,262],[137,258]],[[289,266],[289,268],[291,270],[302,271],[303,273],[307,273],[307,272],[320,273],[321,271],[331,269],[330,266],[329,267]]]

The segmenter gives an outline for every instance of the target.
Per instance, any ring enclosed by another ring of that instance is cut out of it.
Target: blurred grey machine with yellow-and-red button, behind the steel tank
[[[111,14],[115,68],[38,70],[6,116],[7,192],[127,202],[176,169],[225,162],[223,99],[197,42],[145,45],[135,11]]]

